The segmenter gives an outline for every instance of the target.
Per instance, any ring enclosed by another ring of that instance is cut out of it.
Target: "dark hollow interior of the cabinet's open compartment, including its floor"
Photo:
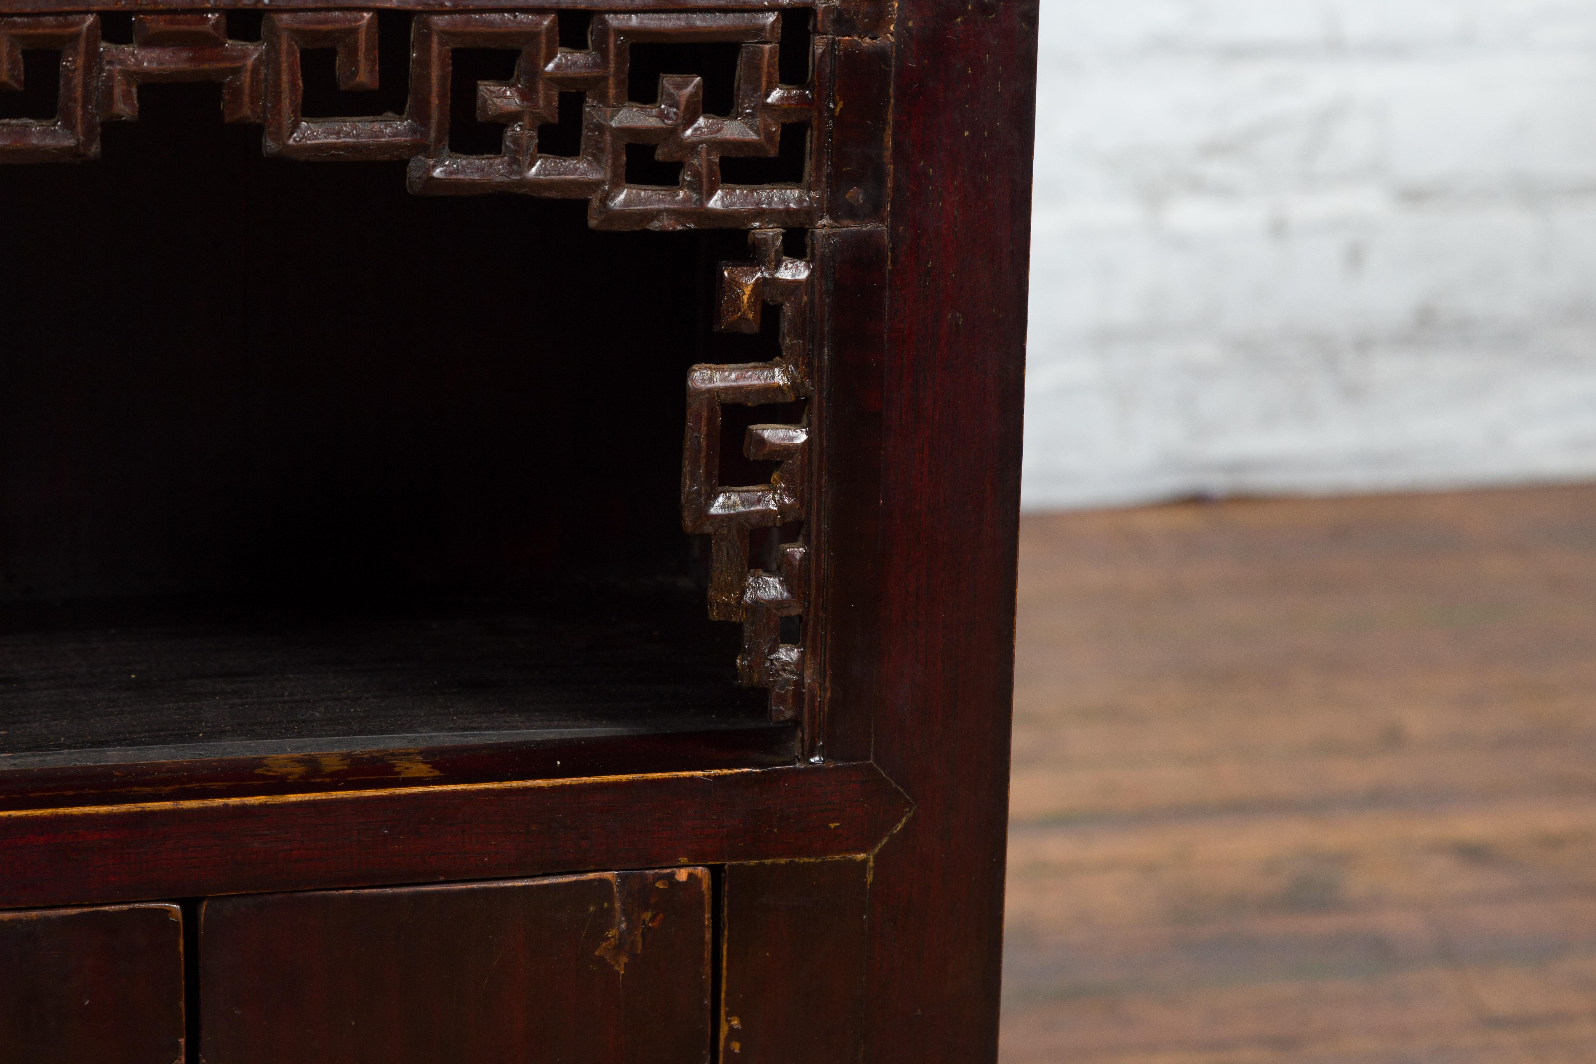
[[[389,30],[322,113],[404,99]],[[0,169],[0,763],[766,726],[677,495],[686,368],[776,353],[710,332],[745,236],[267,160],[219,91]]]

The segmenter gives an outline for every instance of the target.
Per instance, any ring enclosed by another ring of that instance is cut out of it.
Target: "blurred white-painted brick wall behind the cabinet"
[[[1042,0],[1025,502],[1596,479],[1596,0]]]

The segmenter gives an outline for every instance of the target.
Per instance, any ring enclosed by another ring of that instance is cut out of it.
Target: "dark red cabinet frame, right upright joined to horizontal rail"
[[[0,18],[96,6],[0,0]],[[560,6],[803,5],[536,5]],[[0,908],[868,855],[863,1059],[996,1058],[1036,0],[819,19],[859,104],[817,148],[824,747],[768,769],[11,809]]]

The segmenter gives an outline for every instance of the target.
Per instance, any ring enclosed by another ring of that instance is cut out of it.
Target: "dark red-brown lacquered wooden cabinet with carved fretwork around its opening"
[[[0,0],[6,927],[179,904],[105,978],[212,1064],[993,1059],[1036,0],[69,6]]]

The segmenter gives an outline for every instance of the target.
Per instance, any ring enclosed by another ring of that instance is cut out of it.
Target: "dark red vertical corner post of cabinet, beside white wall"
[[[865,1059],[998,1051],[1036,0],[900,0]]]

